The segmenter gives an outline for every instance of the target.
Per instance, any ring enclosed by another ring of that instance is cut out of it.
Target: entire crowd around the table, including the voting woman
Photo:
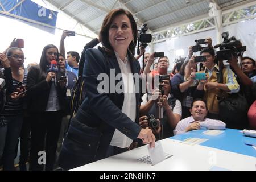
[[[212,39],[206,38],[207,47],[200,51],[206,57],[203,63],[195,62],[189,47],[187,58],[169,73],[167,56],[156,59],[141,46],[134,57],[137,24],[123,9],[106,15],[98,38],[85,45],[81,56],[75,51],[65,55],[64,40],[70,33],[63,32],[59,48],[45,46],[39,64],[28,64],[27,71],[26,52],[15,39],[0,53],[3,170],[15,170],[18,141],[20,170],[27,170],[29,163],[29,170],[51,171],[79,167],[143,144],[154,147],[155,140],[191,130],[256,130],[253,58],[232,56],[224,65]],[[98,43],[102,46],[93,48]],[[138,62],[143,53],[144,70]],[[98,87],[103,73],[109,85],[102,93]],[[197,78],[197,73],[205,77]],[[141,76],[139,85],[144,79],[153,92],[135,92],[136,74]],[[156,78],[159,85],[152,81]],[[236,122],[220,110],[221,101],[230,95],[245,98],[247,105]]]

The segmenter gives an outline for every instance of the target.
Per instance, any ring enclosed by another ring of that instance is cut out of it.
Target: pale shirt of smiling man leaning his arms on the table
[[[179,121],[174,129],[174,135],[185,133],[185,129],[193,122],[195,122],[195,119],[192,116]],[[205,121],[201,121],[199,123],[201,128],[205,127],[207,129],[213,130],[223,130],[226,127],[226,124],[224,122],[209,118],[205,118]]]

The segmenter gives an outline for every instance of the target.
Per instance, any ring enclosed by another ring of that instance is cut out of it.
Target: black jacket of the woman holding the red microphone
[[[56,78],[63,75],[61,72],[57,72]],[[27,76],[27,97],[28,97],[28,110],[31,112],[44,112],[47,107],[49,92],[51,85],[46,81],[46,75],[42,73],[42,69],[39,65],[31,67],[30,72]],[[61,110],[65,110],[65,95],[67,88],[61,88],[59,83],[57,83],[57,94],[59,96],[59,104]]]

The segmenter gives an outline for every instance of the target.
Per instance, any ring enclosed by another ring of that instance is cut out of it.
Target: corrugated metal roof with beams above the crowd
[[[147,23],[152,33],[169,27],[209,17],[209,4],[219,10],[255,2],[253,0],[45,0],[71,18],[98,34],[106,14],[112,9],[125,8],[133,13],[138,26]]]

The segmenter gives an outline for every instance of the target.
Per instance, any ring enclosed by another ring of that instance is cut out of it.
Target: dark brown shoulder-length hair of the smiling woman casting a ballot
[[[131,51],[131,53],[133,53],[134,55],[134,51],[135,51],[135,47],[137,44],[137,34],[138,34],[138,30],[137,30],[137,24],[133,18],[133,15],[124,9],[114,9],[111,10],[104,18],[102,26],[101,26],[101,30],[100,30],[100,34],[99,34],[99,38],[100,38],[100,42],[102,44],[102,46],[104,46],[104,48],[106,49],[107,52],[112,52],[113,48],[109,43],[109,28],[111,23],[113,22],[113,19],[121,14],[125,14],[131,22],[131,29],[133,30],[133,42],[130,43],[129,45],[129,50]]]

